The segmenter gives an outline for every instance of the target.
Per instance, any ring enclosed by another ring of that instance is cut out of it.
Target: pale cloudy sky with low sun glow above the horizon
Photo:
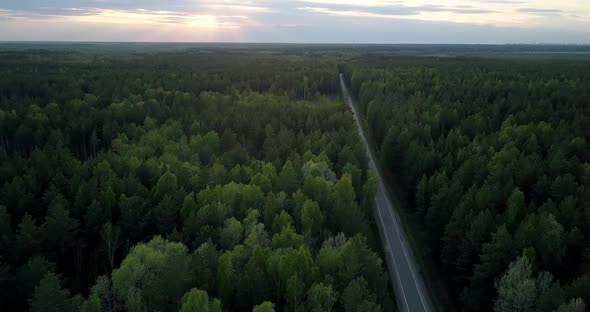
[[[590,0],[0,0],[0,41],[590,44]]]

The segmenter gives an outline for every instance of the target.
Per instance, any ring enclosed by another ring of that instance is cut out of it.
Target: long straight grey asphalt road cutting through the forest
[[[373,152],[367,143],[367,137],[361,126],[356,106],[350,97],[350,93],[348,92],[342,74],[340,74],[340,84],[344,99],[352,109],[361,139],[367,150],[367,155],[369,156],[369,168],[371,168],[378,177],[374,215],[383,242],[389,276],[396,293],[398,307],[400,311],[432,311],[426,289],[423,286],[424,284],[422,283],[419,272],[416,270],[412,253],[406,246],[407,243],[403,228],[399,221],[399,216],[393,209],[389,195],[385,191],[386,188],[383,184],[383,176],[375,162]]]

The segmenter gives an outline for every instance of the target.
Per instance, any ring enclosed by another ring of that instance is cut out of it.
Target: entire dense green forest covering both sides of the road
[[[0,46],[0,307],[395,311],[344,73],[437,309],[585,311],[590,59],[527,49]]]

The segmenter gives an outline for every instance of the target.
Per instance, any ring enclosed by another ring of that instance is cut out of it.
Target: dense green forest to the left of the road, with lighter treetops
[[[0,49],[1,307],[395,309],[337,54],[103,50]]]

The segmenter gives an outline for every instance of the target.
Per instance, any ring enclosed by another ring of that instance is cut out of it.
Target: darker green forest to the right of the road
[[[362,57],[384,167],[464,311],[590,303],[590,61]]]

